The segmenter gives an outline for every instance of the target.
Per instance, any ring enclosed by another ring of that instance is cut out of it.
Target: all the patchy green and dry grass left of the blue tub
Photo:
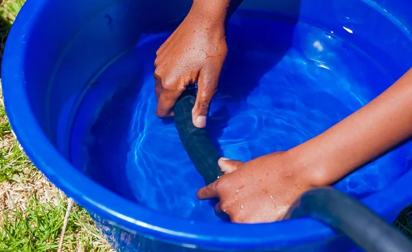
[[[24,0],[5,0],[0,5],[0,57],[5,38],[23,3]],[[0,99],[0,251],[57,251],[66,209],[65,194],[32,165],[14,139]],[[62,251],[113,250],[87,211],[74,205]]]

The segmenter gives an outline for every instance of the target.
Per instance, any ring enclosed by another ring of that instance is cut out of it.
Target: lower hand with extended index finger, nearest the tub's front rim
[[[306,168],[289,152],[275,152],[246,163],[219,161],[225,175],[198,191],[199,199],[220,198],[216,211],[232,222],[281,220],[288,207],[313,186]]]

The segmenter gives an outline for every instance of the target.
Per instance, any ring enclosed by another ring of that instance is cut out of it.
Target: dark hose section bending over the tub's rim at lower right
[[[398,229],[355,198],[329,187],[304,193],[285,219],[306,216],[341,231],[367,252],[412,251],[412,242]]]

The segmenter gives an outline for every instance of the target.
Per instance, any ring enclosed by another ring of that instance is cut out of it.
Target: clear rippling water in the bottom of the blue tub
[[[211,138],[225,157],[248,161],[293,148],[396,80],[398,76],[376,60],[380,51],[365,51],[367,45],[350,40],[358,31],[354,21],[347,20],[347,27],[334,31],[305,19],[236,12],[208,122]],[[70,146],[69,158],[76,167],[131,201],[163,214],[220,221],[208,202],[196,198],[204,182],[174,124],[154,113],[155,52],[172,28],[141,34],[137,45],[90,76],[71,108],[70,141],[65,146]],[[407,36],[402,39],[409,43]],[[335,187],[363,198],[407,172],[409,159],[409,148],[398,148]]]

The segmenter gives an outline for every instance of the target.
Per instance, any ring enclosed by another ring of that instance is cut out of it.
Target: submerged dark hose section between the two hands
[[[190,161],[206,185],[222,176],[218,166],[220,154],[211,142],[205,128],[197,128],[192,122],[192,108],[196,101],[196,84],[190,84],[174,105],[174,125]]]

